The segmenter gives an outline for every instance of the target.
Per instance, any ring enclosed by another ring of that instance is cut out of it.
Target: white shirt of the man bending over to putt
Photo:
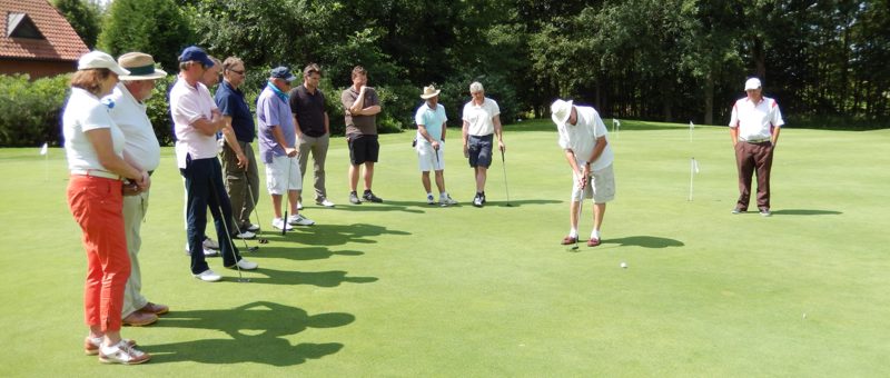
[[[592,107],[575,106],[575,111],[577,112],[577,125],[568,125],[566,122],[565,126],[556,128],[560,132],[560,147],[565,150],[571,149],[578,161],[586,162],[593,153],[596,140],[605,138],[605,149],[600,153],[596,161],[591,163],[591,170],[601,170],[609,167],[615,160],[615,155],[612,152],[612,146],[609,145],[607,130],[600,118],[600,113]]]

